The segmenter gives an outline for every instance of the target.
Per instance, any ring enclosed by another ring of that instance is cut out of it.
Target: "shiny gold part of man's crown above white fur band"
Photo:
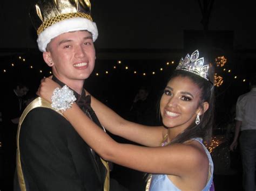
[[[38,35],[55,23],[75,17],[92,21],[90,0],[39,0],[30,10]]]

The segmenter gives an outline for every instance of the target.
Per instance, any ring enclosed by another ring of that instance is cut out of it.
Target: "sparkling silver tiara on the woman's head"
[[[194,51],[191,56],[189,54],[186,55],[185,59],[180,59],[179,65],[176,69],[186,70],[187,72],[192,72],[196,75],[204,77],[205,80],[209,80],[207,78],[207,72],[209,65],[204,65],[204,57],[198,59],[199,52],[198,50]],[[203,66],[204,65],[204,66]]]

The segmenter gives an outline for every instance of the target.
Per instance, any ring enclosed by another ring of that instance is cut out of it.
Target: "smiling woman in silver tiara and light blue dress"
[[[152,174],[147,190],[213,190],[213,164],[203,141],[211,138],[214,86],[199,52],[181,59],[160,100],[163,126],[126,121],[91,97],[102,125],[144,146],[120,144],[93,123],[76,103],[63,111],[79,135],[107,161]],[[38,95],[51,102],[58,84],[42,80]]]

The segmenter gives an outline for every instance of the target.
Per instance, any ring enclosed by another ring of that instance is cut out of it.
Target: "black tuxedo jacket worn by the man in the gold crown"
[[[106,168],[58,112],[32,109],[18,133],[17,161],[20,158],[26,190],[104,189]]]

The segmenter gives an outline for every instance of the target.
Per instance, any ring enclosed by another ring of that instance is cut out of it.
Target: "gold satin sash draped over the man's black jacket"
[[[26,191],[26,186],[25,186],[25,180],[24,180],[24,175],[22,172],[22,165],[21,165],[21,154],[19,152],[19,132],[21,131],[21,124],[24,121],[24,118],[26,117],[26,115],[28,115],[29,111],[31,111],[34,108],[37,107],[43,107],[43,108],[49,108],[54,110],[51,107],[51,104],[44,100],[41,97],[36,98],[35,100],[33,100],[28,107],[26,107],[26,109],[23,111],[23,114],[21,116],[21,118],[19,118],[19,125],[18,125],[18,131],[17,131],[17,154],[16,154],[16,165],[17,165],[17,176],[18,176],[18,182],[19,182],[19,187],[21,188],[21,191]],[[56,111],[56,110],[55,110]],[[63,114],[59,111],[58,112],[60,115],[63,116]],[[63,116],[64,117],[64,116]],[[100,158],[103,165],[105,166],[107,173],[106,173],[106,178],[105,178],[105,182],[104,182],[104,191],[109,191],[109,165],[107,164],[107,161],[103,160],[102,158]]]

